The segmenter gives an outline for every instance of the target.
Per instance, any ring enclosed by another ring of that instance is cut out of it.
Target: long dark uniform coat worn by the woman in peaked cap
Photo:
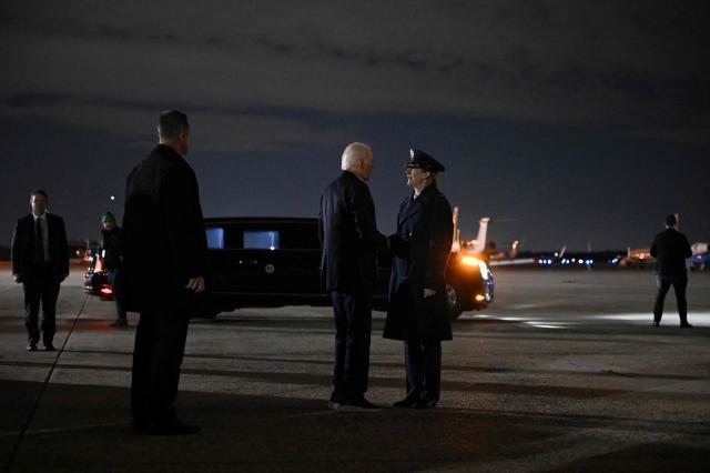
[[[402,202],[389,280],[386,339],[412,342],[452,340],[446,299],[446,266],[454,223],[446,197],[433,185]],[[424,298],[424,289],[436,294]]]

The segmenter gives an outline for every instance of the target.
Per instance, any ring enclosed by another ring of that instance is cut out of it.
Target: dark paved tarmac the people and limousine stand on
[[[498,271],[497,299],[455,323],[429,411],[329,411],[327,308],[243,310],[190,329],[183,437],[133,434],[131,328],[87,298],[59,302],[58,352],[28,353],[21,288],[0,270],[0,465],[26,471],[667,471],[710,465],[710,274],[689,320],[650,272]],[[404,395],[403,350],[373,331],[368,397]]]

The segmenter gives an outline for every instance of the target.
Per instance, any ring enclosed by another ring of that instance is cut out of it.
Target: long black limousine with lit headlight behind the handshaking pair
[[[216,310],[248,306],[329,305],[321,288],[317,219],[205,219],[211,286]],[[378,255],[374,308],[386,309],[392,258]],[[452,320],[483,310],[494,299],[494,278],[485,261],[453,251],[446,272]]]

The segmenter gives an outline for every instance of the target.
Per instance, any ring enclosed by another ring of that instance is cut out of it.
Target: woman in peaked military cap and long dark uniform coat
[[[439,192],[442,165],[413,149],[407,185],[414,189],[399,207],[384,336],[405,341],[407,394],[398,407],[434,407],[439,400],[442,341],[452,340],[447,312],[446,266],[452,251],[452,207]]]

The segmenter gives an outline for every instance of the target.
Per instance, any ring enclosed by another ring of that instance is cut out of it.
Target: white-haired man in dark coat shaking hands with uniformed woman
[[[323,192],[318,218],[321,280],[331,292],[336,331],[334,390],[328,405],[378,410],[365,399],[365,392],[376,253],[388,243],[377,231],[375,204],[366,184],[373,169],[372,149],[363,143],[349,144],[343,152],[342,169],[339,178]]]

